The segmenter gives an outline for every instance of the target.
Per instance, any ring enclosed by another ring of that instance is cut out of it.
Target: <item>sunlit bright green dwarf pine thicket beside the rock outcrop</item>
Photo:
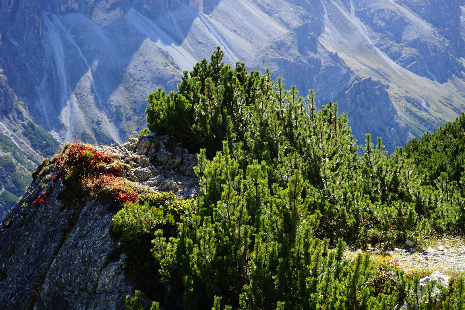
[[[156,194],[113,219],[126,243],[152,240],[137,251],[151,251],[156,270],[146,272],[169,287],[158,301],[166,309],[417,306],[409,295],[416,280],[401,273],[395,290],[386,282],[375,296],[370,257],[349,263],[345,242],[461,233],[463,190],[447,174],[436,187],[425,184],[404,149],[387,156],[369,134],[359,157],[337,103],[316,112],[312,90],[302,98],[269,70],[247,73],[241,62],[232,69],[222,57],[218,48],[211,62],[184,72],[178,92],[148,98],[150,130],[199,152],[201,197],[173,203]],[[444,293],[448,309],[458,309],[462,286]]]

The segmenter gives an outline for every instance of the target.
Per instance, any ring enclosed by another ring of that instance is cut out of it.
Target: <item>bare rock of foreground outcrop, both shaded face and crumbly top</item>
[[[96,149],[129,165],[126,177],[149,191],[174,191],[183,198],[199,192],[192,170],[196,156],[166,139]],[[2,309],[124,309],[134,283],[125,277],[125,255],[112,234],[115,211],[107,212],[98,199],[65,205],[55,198],[63,185],[50,180],[59,171],[53,165],[45,169],[0,222]],[[52,188],[45,203],[33,204]]]

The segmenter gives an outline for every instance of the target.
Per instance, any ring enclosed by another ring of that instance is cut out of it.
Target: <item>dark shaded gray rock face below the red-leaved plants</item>
[[[133,284],[120,257],[107,259],[120,246],[109,234],[114,212],[95,200],[81,211],[64,205],[55,198],[60,182],[47,185],[53,190],[45,203],[33,204],[40,184],[0,223],[2,309],[124,309]]]

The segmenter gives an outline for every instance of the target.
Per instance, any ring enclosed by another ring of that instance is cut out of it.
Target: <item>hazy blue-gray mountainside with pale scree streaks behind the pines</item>
[[[216,46],[338,101],[390,151],[465,109],[465,0],[18,0],[0,17],[7,85],[59,141],[137,134],[147,94]]]

